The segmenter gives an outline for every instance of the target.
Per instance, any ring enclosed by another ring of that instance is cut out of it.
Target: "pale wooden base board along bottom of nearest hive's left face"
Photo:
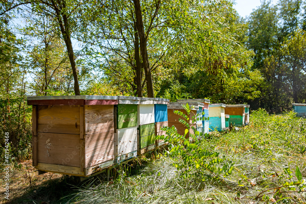
[[[35,168],[46,172],[60,173],[72,176],[85,176],[84,172],[80,172],[80,167],[46,164],[39,162]]]

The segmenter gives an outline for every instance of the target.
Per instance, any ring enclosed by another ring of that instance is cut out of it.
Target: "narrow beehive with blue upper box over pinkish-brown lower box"
[[[155,111],[155,135],[166,135],[166,131],[160,130],[163,126],[168,126],[168,113],[167,104],[169,104],[169,99],[166,98],[156,98],[156,104],[154,104]],[[165,144],[162,139],[157,139],[155,141],[156,147]]]

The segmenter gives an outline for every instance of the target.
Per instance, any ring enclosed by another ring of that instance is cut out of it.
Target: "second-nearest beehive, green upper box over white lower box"
[[[114,107],[116,113],[116,127],[114,134],[115,163],[137,156],[137,114],[140,98],[118,96],[118,105]]]

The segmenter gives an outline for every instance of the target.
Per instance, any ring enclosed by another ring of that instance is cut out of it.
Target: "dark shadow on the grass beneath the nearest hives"
[[[123,171],[127,176],[139,175],[141,170],[148,164],[147,161],[130,161],[110,170],[110,181],[107,180],[106,172],[90,179],[80,181],[78,176],[63,175],[59,178],[43,181],[38,185],[26,187],[24,193],[14,196],[9,204],[35,203],[35,204],[63,204],[70,203],[82,187],[93,187],[107,182],[113,182]]]

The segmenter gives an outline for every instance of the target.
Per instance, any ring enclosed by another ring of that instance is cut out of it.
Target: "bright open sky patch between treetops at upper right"
[[[260,6],[260,0],[235,0],[235,2],[236,5],[234,5],[234,8],[237,10],[239,15],[244,18],[249,16],[253,9]],[[271,2],[275,5],[277,1],[272,0]]]

